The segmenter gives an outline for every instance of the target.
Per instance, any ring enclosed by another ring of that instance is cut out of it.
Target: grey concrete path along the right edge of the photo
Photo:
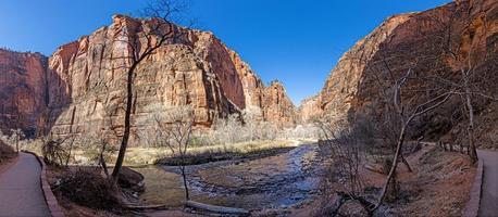
[[[477,150],[483,159],[483,186],[480,217],[498,217],[498,152]]]

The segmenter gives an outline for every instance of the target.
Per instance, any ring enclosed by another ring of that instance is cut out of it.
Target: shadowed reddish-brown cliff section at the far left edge
[[[47,101],[47,58],[0,49],[0,130],[37,133]]]

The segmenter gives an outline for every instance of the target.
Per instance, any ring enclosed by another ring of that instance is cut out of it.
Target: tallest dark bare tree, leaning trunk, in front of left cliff
[[[113,39],[113,42],[126,44],[129,51],[125,56],[111,58],[112,61],[122,60],[128,63],[124,66],[126,72],[124,131],[116,163],[112,171],[114,181],[117,181],[128,146],[136,69],[140,63],[167,41],[175,40],[183,35],[182,30],[173,23],[173,20],[177,18],[177,15],[185,10],[185,7],[186,4],[179,0],[158,0],[145,10],[145,16],[151,20],[147,22],[148,25],[140,35],[132,35],[126,28],[123,28],[120,34],[116,34],[115,39]]]

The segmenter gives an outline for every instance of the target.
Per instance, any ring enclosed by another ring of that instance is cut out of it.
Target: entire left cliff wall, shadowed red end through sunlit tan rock
[[[137,43],[133,38],[144,34],[149,22],[115,15],[110,26],[60,47],[48,60],[35,54],[5,55],[0,63],[13,69],[0,74],[0,82],[5,84],[2,93],[10,99],[1,104],[1,122],[15,118],[12,114],[29,113],[29,127],[47,126],[45,132],[87,133],[104,127],[120,131],[125,69],[130,64],[123,56],[132,52],[128,43]],[[294,111],[288,111],[292,106],[282,86],[265,88],[249,65],[213,34],[174,28],[183,36],[167,41],[136,69],[134,135],[150,125],[157,111],[178,105],[190,105],[196,124],[203,127],[248,106],[259,107],[267,117],[264,120],[286,126],[292,122]],[[20,84],[27,88],[15,89]],[[23,95],[29,100],[17,100],[22,107],[17,108],[13,99]],[[271,101],[263,104],[264,98]]]

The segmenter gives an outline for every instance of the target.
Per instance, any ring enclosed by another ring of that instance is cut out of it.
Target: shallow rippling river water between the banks
[[[287,153],[252,161],[224,161],[187,167],[194,201],[246,209],[300,204],[316,193],[318,146],[300,145]],[[146,177],[140,201],[180,206],[185,199],[176,167],[135,168]]]

